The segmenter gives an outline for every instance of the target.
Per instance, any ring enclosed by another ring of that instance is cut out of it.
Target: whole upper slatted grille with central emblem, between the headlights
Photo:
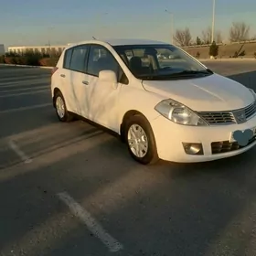
[[[256,102],[249,106],[227,112],[197,112],[209,125],[244,123],[256,114]]]

